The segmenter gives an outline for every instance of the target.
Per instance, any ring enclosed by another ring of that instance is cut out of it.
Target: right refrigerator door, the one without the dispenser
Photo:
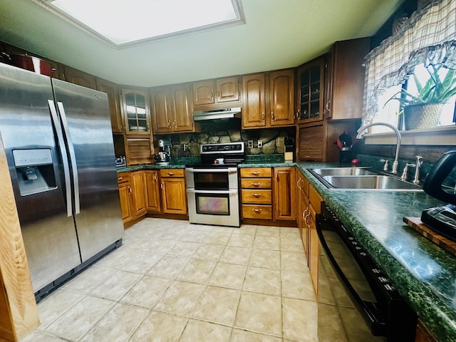
[[[70,160],[81,258],[86,261],[123,236],[108,97],[52,82]]]

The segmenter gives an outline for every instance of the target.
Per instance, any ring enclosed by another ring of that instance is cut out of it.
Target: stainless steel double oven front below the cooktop
[[[237,167],[187,167],[190,223],[239,227]]]

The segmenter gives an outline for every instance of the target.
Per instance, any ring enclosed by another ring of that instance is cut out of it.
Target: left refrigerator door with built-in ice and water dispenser
[[[0,133],[34,291],[81,264],[48,100],[51,78],[0,64]]]

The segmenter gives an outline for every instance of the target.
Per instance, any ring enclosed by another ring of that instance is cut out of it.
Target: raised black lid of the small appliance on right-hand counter
[[[446,203],[456,204],[456,196],[442,190],[442,182],[453,170],[455,164],[456,150],[446,152],[435,162],[434,167],[430,170],[423,184],[423,190],[427,195],[431,195]]]

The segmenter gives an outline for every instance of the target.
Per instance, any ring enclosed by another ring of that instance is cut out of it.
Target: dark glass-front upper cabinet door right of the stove
[[[298,123],[323,120],[324,68],[323,58],[298,68]]]

